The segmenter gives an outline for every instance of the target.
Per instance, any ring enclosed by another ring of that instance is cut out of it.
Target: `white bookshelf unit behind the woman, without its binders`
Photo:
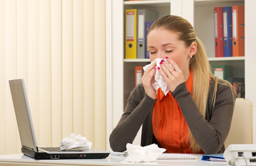
[[[256,1],[254,0],[152,0],[152,1],[123,1],[109,0],[112,2],[111,8],[111,52],[107,53],[111,58],[111,92],[107,97],[111,97],[109,113],[111,113],[111,124],[109,128],[114,128],[119,121],[126,106],[127,98],[134,89],[134,68],[149,64],[149,59],[124,59],[124,14],[127,8],[150,9],[159,12],[159,17],[167,14],[180,15],[193,25],[196,35],[204,43],[208,53],[208,60],[211,65],[233,66],[235,77],[245,77],[245,98],[256,103],[256,86],[254,66],[256,56],[254,51],[254,39],[256,38]],[[213,8],[218,6],[245,6],[245,56],[215,58],[214,51],[214,16]],[[120,24],[121,22],[121,24]],[[114,33],[115,32],[115,33]],[[108,108],[107,108],[108,109]],[[110,110],[111,109],[111,110]],[[255,108],[254,108],[255,110]],[[254,113],[253,126],[256,126],[256,113]],[[253,133],[253,141],[256,142],[256,130]],[[111,133],[111,129],[109,131]],[[109,134],[110,134],[109,133]],[[107,133],[108,134],[108,133]],[[108,135],[107,135],[107,138]],[[138,139],[139,140],[139,139]],[[108,141],[107,141],[108,143]]]

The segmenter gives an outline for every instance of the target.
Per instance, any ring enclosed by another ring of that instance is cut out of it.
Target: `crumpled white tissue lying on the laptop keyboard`
[[[85,137],[82,137],[80,134],[71,133],[70,137],[62,139],[60,144],[61,151],[66,149],[81,149],[89,150],[92,147],[92,142],[87,141]]]

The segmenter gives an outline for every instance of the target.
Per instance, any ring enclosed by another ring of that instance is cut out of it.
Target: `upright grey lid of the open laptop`
[[[22,146],[38,152],[26,87],[23,79],[9,81]]]

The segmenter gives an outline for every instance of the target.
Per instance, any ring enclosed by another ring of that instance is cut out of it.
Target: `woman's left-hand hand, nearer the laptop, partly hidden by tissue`
[[[147,96],[156,99],[156,91],[154,87],[152,87],[152,79],[154,78],[156,72],[156,64],[151,65],[149,69],[147,69],[142,78],[141,78],[141,83],[144,86],[145,92]],[[154,81],[154,80],[153,80]]]

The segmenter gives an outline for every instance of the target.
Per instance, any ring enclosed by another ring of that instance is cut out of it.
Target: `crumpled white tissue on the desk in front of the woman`
[[[141,147],[133,144],[126,144],[128,156],[124,162],[154,162],[156,158],[166,151],[164,148],[159,148],[156,144]]]

